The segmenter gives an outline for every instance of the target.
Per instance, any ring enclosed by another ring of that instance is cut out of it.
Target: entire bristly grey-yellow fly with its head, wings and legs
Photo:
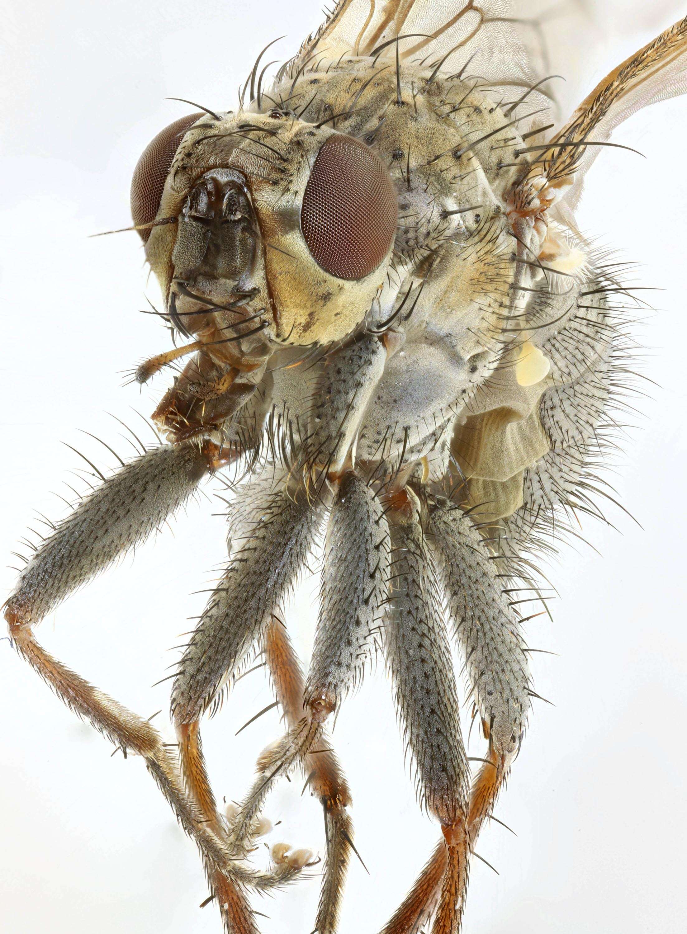
[[[341,0],[265,90],[179,120],[150,144],[135,227],[189,343],[153,415],[167,444],[64,520],[7,601],[14,644],[80,715],[148,768],[201,851],[231,934],[253,890],[307,850],[250,865],[265,796],[302,768],[327,855],[315,929],[337,929],[351,793],[326,733],[383,652],[437,849],[385,934],[458,930],[471,853],[534,694],[518,588],[560,514],[599,515],[625,353],[616,270],[577,231],[581,179],[611,130],[682,92],[687,21],[604,79],[565,120],[527,5]],[[50,658],[33,626],[231,464],[230,560],[172,688],[179,760],[147,721]],[[243,481],[246,482],[243,482]],[[276,616],[323,545],[307,676]],[[488,743],[471,775],[451,661],[465,659]],[[199,723],[265,652],[287,732],[220,814]],[[535,695],[536,696],[536,695]]]

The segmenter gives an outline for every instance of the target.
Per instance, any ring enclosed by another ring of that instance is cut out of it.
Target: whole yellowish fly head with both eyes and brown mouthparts
[[[387,275],[397,204],[365,143],[272,110],[171,124],[136,166],[132,213],[192,339],[153,416],[181,441],[232,417],[275,353],[355,330]]]

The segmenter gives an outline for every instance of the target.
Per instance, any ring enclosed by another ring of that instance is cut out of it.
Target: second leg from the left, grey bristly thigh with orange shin
[[[208,828],[237,860],[228,872],[206,861],[225,929],[232,934],[253,934],[256,928],[242,886],[266,890],[289,881],[300,867],[284,861],[271,872],[258,873],[242,861],[249,846],[236,846],[236,835],[227,834],[217,814],[200,745],[199,721],[217,699],[222,684],[231,679],[253,644],[262,638],[276,604],[293,586],[312,545],[320,513],[308,502],[293,502],[284,492],[273,492],[261,484],[250,488],[250,502],[247,498],[239,502],[234,513],[236,553],[181,658],[172,691],[172,713],[188,793]],[[253,816],[247,820],[247,843]]]

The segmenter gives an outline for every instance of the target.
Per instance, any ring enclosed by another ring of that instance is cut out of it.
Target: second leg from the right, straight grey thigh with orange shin
[[[440,822],[444,841],[385,931],[416,931],[437,905],[434,934],[452,934],[460,925],[467,884],[469,769],[437,573],[420,509],[417,497],[405,490],[394,497],[390,512],[395,551],[387,659],[422,804]]]

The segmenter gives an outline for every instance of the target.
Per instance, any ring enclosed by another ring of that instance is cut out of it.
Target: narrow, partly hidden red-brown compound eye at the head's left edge
[[[165,188],[165,179],[169,172],[183,134],[190,130],[197,120],[205,114],[190,114],[181,117],[165,127],[143,150],[136,163],[134,177],[131,180],[131,216],[136,227],[150,224],[160,207],[160,200]],[[152,228],[138,231],[145,243]]]

